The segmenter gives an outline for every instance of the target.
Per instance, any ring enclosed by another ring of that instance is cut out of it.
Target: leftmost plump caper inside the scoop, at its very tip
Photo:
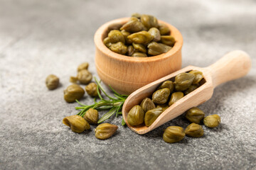
[[[134,106],[128,113],[127,122],[129,125],[140,125],[144,122],[145,113],[141,106]]]

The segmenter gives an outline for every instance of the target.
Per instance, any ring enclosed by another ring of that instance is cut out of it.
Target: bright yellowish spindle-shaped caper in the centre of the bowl
[[[133,33],[129,35],[128,38],[137,44],[147,44],[154,39],[154,37],[145,30],[142,30],[138,33]]]

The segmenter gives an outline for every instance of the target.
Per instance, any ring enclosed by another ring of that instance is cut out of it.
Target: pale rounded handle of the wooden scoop
[[[220,60],[207,67],[213,78],[213,87],[245,76],[251,68],[250,56],[242,50],[228,52]]]

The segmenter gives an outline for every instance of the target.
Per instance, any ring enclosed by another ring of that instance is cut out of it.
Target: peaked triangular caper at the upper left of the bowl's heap
[[[120,30],[126,30],[129,33],[137,33],[141,30],[146,30],[146,27],[139,21],[138,18],[131,17],[130,20],[120,28]]]

